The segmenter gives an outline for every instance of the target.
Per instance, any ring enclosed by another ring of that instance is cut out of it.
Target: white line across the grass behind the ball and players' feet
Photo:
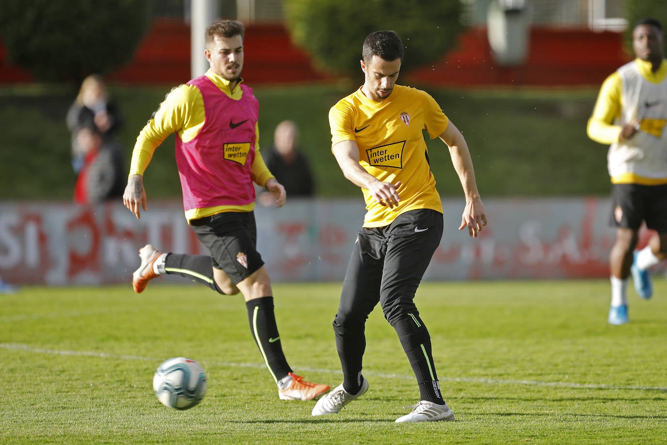
[[[114,360],[144,360],[147,362],[161,363],[164,359],[143,357],[143,356],[124,356],[116,354],[107,354],[106,352],[94,351],[67,351],[67,350],[52,350],[44,348],[33,348],[25,344],[15,343],[0,343],[0,349],[18,350],[25,352],[33,352],[34,354],[53,354],[57,356],[85,356],[85,357],[99,357],[111,358]],[[232,363],[232,362],[207,362],[217,366],[229,366],[231,368],[265,368],[264,364],[253,363]],[[340,370],[327,370],[319,368],[299,368],[303,372],[319,372],[322,374],[340,374]],[[400,380],[414,380],[414,376],[406,376],[405,374],[383,374],[381,372],[364,372],[367,376],[374,376],[378,378],[394,378]],[[581,384],[572,382],[540,382],[539,380],[506,380],[506,379],[491,379],[491,378],[453,378],[445,377],[439,379],[441,382],[473,382],[484,383],[490,385],[527,385],[527,386],[552,386],[554,388],[589,388],[596,390],[632,390],[632,391],[665,391],[667,387],[661,386],[618,386],[607,384]]]

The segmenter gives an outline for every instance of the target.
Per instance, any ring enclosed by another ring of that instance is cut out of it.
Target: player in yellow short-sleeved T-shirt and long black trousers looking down
[[[335,414],[368,390],[362,375],[366,320],[380,303],[394,327],[420,390],[420,402],[396,422],[453,420],[414,296],[444,226],[424,133],[440,137],[466,197],[459,229],[472,237],[486,226],[468,145],[440,105],[418,89],[396,85],[403,43],[394,31],[364,41],[364,85],[329,111],[331,151],[346,178],[362,187],[368,212],[354,244],[333,321],[343,383],[319,399],[313,416]]]

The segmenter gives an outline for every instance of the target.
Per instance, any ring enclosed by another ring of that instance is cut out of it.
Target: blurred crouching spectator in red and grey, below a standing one
[[[81,127],[76,143],[83,156],[74,188],[79,204],[101,203],[120,198],[125,190],[123,150],[114,139],[105,139],[97,127]]]

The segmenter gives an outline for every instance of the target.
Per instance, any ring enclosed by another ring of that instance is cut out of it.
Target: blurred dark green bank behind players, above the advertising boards
[[[318,195],[361,196],[331,155],[327,121],[329,107],[357,86],[254,89],[260,102],[261,146],[271,143],[279,121],[297,121]],[[464,133],[483,197],[608,194],[606,146],[586,136],[597,89],[426,90]],[[137,134],[167,91],[169,87],[111,88],[125,115],[121,139],[128,165]],[[74,89],[53,86],[0,89],[5,128],[0,199],[71,199],[75,176],[65,113],[75,94]],[[446,146],[437,139],[428,142],[440,193],[460,196]],[[173,136],[157,149],[145,185],[149,199],[180,195]]]

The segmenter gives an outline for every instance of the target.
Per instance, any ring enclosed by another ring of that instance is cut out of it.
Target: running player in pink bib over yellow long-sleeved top
[[[273,314],[271,280],[257,252],[255,189],[265,187],[277,207],[285,189],[259,155],[259,103],[241,79],[243,25],[217,20],[206,31],[210,69],[173,89],[143,127],[135,144],[125,207],[137,218],[147,209],[143,173],[153,152],[176,133],[176,163],[185,217],[211,256],[160,253],[147,244],[139,250],[135,292],[161,274],[177,274],[220,294],[241,292],[250,330],[283,400],[312,400],[329,389],[294,374],[283,354]]]

